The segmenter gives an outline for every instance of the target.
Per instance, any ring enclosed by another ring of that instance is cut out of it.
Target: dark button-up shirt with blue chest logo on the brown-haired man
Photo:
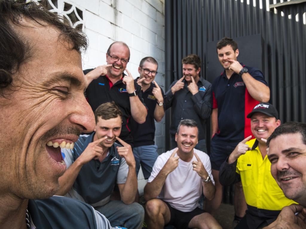
[[[188,118],[197,122],[199,140],[205,139],[205,120],[210,117],[212,109],[211,83],[200,77],[197,82],[199,92],[192,95],[187,88],[187,82],[183,80],[185,83],[184,88],[173,95],[171,87],[173,87],[176,82],[177,80],[170,85],[169,90],[165,94],[166,109],[172,107],[170,134],[175,135],[180,121]]]

